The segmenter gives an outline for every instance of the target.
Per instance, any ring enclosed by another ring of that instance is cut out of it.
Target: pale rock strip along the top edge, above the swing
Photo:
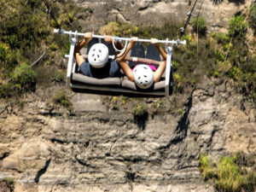
[[[94,30],[105,25],[106,21],[118,21],[132,25],[159,26],[171,20],[184,22],[187,13],[192,9],[195,1],[161,1],[161,0],[74,0],[85,12],[90,12],[86,18],[81,12],[79,19],[85,31]],[[198,1],[193,14],[201,15],[207,21],[208,32],[225,30],[230,18],[243,12],[252,2],[244,1],[237,6],[237,1]],[[153,16],[154,15],[154,16]],[[177,29],[179,30],[179,29]]]

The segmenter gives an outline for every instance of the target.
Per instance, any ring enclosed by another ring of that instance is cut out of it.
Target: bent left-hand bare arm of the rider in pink
[[[131,38],[129,44],[127,45],[127,48],[125,50],[123,50],[122,52],[120,52],[119,55],[117,55],[117,59],[116,59],[116,61],[119,62],[119,66],[122,68],[122,70],[124,71],[127,78],[131,81],[134,81],[133,72],[132,72],[131,68],[128,66],[128,64],[123,60],[125,59],[125,56],[131,50],[132,46],[136,42],[137,42],[137,38]]]

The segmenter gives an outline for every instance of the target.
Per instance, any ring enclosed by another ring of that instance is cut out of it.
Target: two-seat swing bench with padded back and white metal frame
[[[74,59],[74,46],[77,42],[78,36],[84,36],[84,33],[79,32],[66,32],[64,30],[55,29],[55,33],[60,34],[68,34],[69,35],[69,41],[70,41],[70,49],[69,54],[65,55],[65,57],[68,58],[67,61],[67,84],[69,84],[70,88],[74,92],[79,93],[96,93],[96,94],[103,94],[103,95],[123,95],[123,96],[148,96],[148,97],[162,97],[166,96],[166,98],[169,98],[169,96],[172,94],[172,46],[167,46],[168,44],[186,44],[186,41],[169,41],[166,40],[160,40],[159,43],[165,43],[166,44],[166,50],[167,50],[167,60],[166,60],[166,72],[162,75],[160,82],[154,83],[153,90],[139,90],[137,89],[137,86],[134,82],[127,79],[127,77],[124,75],[121,78],[105,78],[105,79],[96,79],[84,76],[81,73],[78,73],[78,65],[76,64],[76,61]],[[92,35],[93,38],[104,38],[103,36],[99,35]],[[113,42],[114,40],[124,40],[125,41],[125,47],[126,49],[127,42],[130,40],[130,38],[112,38]],[[150,39],[138,39],[139,42],[149,42]],[[113,48],[116,51],[122,51],[119,49],[116,49],[113,44]],[[83,55],[84,58],[87,57],[87,55]],[[109,55],[109,58],[114,58],[114,55]],[[153,61],[148,60],[145,58],[136,58],[136,57],[130,57],[126,56],[125,61],[140,61],[144,63],[151,63],[159,65],[160,61]]]

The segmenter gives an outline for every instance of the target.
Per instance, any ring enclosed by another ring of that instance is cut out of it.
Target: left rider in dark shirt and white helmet
[[[122,46],[114,42],[117,47]],[[88,60],[80,54],[80,49],[88,44]],[[84,38],[75,44],[74,56],[79,66],[79,72],[96,79],[119,76],[119,64],[108,58],[108,55],[115,55],[112,45],[112,38],[104,36],[102,43],[97,38],[92,38],[91,32],[86,32]]]

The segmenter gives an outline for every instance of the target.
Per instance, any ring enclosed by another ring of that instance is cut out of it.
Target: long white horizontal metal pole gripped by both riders
[[[82,32],[68,32],[65,30],[59,30],[59,29],[54,29],[55,33],[60,33],[60,34],[67,34],[67,35],[73,35],[73,36],[84,36],[84,33]],[[92,35],[92,38],[104,38],[102,35]],[[114,37],[115,39],[121,40],[121,41],[130,41],[131,38],[119,38],[119,37]],[[143,39],[143,38],[138,38],[139,42],[148,42],[150,43],[150,39]],[[167,41],[166,40],[158,40],[159,43],[161,44],[186,44],[186,40],[180,41],[180,40],[172,40],[172,41]]]

